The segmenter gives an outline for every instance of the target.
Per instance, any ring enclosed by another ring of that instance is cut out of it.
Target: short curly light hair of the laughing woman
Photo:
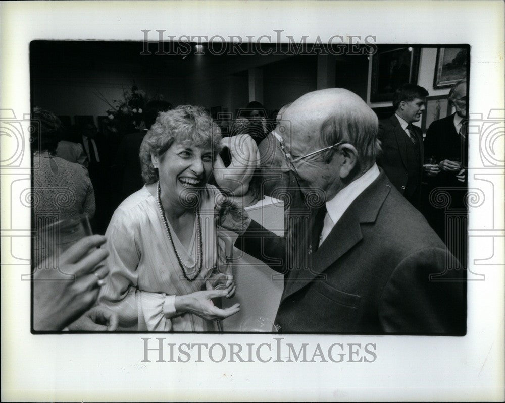
[[[213,160],[221,151],[221,129],[201,106],[180,105],[160,112],[140,146],[142,179],[146,184],[158,181],[158,169],[151,155],[163,155],[175,142],[190,141],[193,146],[210,147]]]

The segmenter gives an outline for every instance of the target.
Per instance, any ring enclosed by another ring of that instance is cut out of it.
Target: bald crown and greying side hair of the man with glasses
[[[377,116],[351,91],[328,88],[309,92],[289,105],[282,118],[291,125],[293,154],[304,155],[344,141],[356,147],[362,168],[375,162],[379,150]]]

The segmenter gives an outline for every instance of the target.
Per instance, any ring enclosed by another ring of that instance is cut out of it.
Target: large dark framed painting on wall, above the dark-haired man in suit
[[[372,56],[370,102],[391,101],[402,84],[417,84],[421,49],[397,45],[377,46]]]

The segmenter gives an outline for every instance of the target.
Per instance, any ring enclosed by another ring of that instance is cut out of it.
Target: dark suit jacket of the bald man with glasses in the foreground
[[[443,281],[463,271],[444,273],[444,244],[383,171],[317,242],[311,271],[285,273],[282,332],[466,333],[465,282]],[[282,271],[283,238],[254,221],[235,246]]]

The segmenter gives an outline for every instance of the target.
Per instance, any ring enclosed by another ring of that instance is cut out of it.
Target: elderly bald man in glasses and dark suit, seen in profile
[[[289,256],[254,222],[235,245],[284,263],[281,332],[466,333],[464,282],[443,281],[454,277],[443,243],[377,167],[377,129],[366,103],[338,88],[301,96],[275,129],[312,225]]]

